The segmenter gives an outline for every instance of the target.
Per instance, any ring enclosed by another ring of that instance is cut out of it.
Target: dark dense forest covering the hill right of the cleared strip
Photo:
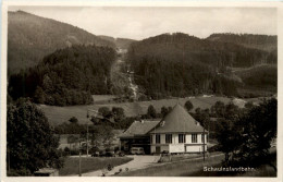
[[[271,59],[269,54],[232,43],[175,33],[133,43],[127,62],[135,72],[136,84],[155,99],[202,93],[237,96],[241,82],[227,68],[275,63],[276,57]]]

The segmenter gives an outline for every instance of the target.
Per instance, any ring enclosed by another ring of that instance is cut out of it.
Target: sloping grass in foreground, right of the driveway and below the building
[[[206,166],[219,165],[224,159],[224,156],[216,156],[202,160],[198,158],[195,160],[183,160],[177,162],[158,163],[145,169],[123,172],[120,177],[190,177],[190,173],[202,170]]]

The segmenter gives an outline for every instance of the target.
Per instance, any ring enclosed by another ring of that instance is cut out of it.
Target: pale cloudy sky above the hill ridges
[[[144,39],[163,33],[206,38],[213,33],[276,35],[274,8],[10,7],[81,27],[95,35]]]

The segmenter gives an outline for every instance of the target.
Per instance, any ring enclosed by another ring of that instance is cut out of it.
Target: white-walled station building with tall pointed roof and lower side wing
[[[147,154],[202,153],[207,150],[207,134],[181,105],[176,105],[161,120],[135,121],[120,135],[120,141],[124,150],[140,146]]]

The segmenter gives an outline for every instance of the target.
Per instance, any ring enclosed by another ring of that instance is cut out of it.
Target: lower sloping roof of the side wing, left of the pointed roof
[[[143,121],[134,121],[131,126],[119,137],[134,137],[134,136],[143,136],[148,134],[153,128],[158,125],[160,119],[155,119],[151,121],[143,120]]]

